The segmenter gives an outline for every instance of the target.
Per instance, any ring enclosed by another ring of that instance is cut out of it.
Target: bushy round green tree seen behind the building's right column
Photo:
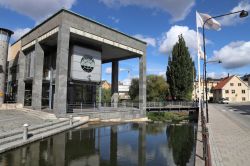
[[[133,101],[139,99],[139,79],[132,79],[129,95]],[[168,84],[162,76],[147,76],[147,101],[164,101],[168,95]]]

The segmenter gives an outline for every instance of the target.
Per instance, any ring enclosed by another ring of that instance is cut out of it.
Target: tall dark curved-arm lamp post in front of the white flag
[[[213,18],[219,18],[219,17],[224,17],[224,16],[228,16],[228,15],[232,15],[232,14],[237,14],[237,13],[240,13],[239,17],[240,18],[243,18],[243,17],[246,17],[248,16],[248,12],[245,11],[245,10],[240,10],[240,11],[236,11],[236,12],[231,12],[231,13],[227,13],[227,14],[222,14],[222,15],[218,15],[218,16],[213,16],[213,17],[210,17],[208,19],[206,19],[203,23],[203,26],[202,26],[202,30],[203,30],[203,52],[204,52],[204,77],[205,77],[205,93],[206,93],[206,117],[207,117],[207,123],[209,122],[209,118],[208,118],[208,101],[207,101],[207,57],[206,57],[206,42],[205,42],[205,25],[206,23],[213,19]],[[203,92],[204,93],[204,92]]]

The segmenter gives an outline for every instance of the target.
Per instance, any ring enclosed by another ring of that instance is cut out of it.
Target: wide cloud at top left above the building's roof
[[[70,9],[76,0],[0,0],[0,6],[40,21],[61,8]]]

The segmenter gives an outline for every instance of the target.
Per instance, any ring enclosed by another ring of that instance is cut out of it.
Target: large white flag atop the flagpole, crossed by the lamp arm
[[[209,18],[211,18],[211,16],[208,15],[208,14],[196,12],[196,24],[197,24],[197,27],[202,28],[204,22]],[[214,29],[214,30],[219,31],[221,29],[221,25],[220,25],[220,23],[218,21],[216,21],[215,19],[212,18],[212,19],[210,19],[210,20],[208,20],[206,22],[205,28]]]

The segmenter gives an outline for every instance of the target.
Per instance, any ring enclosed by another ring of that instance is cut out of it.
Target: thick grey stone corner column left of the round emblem
[[[57,38],[56,79],[55,79],[55,113],[67,113],[67,81],[70,32],[62,24]]]

